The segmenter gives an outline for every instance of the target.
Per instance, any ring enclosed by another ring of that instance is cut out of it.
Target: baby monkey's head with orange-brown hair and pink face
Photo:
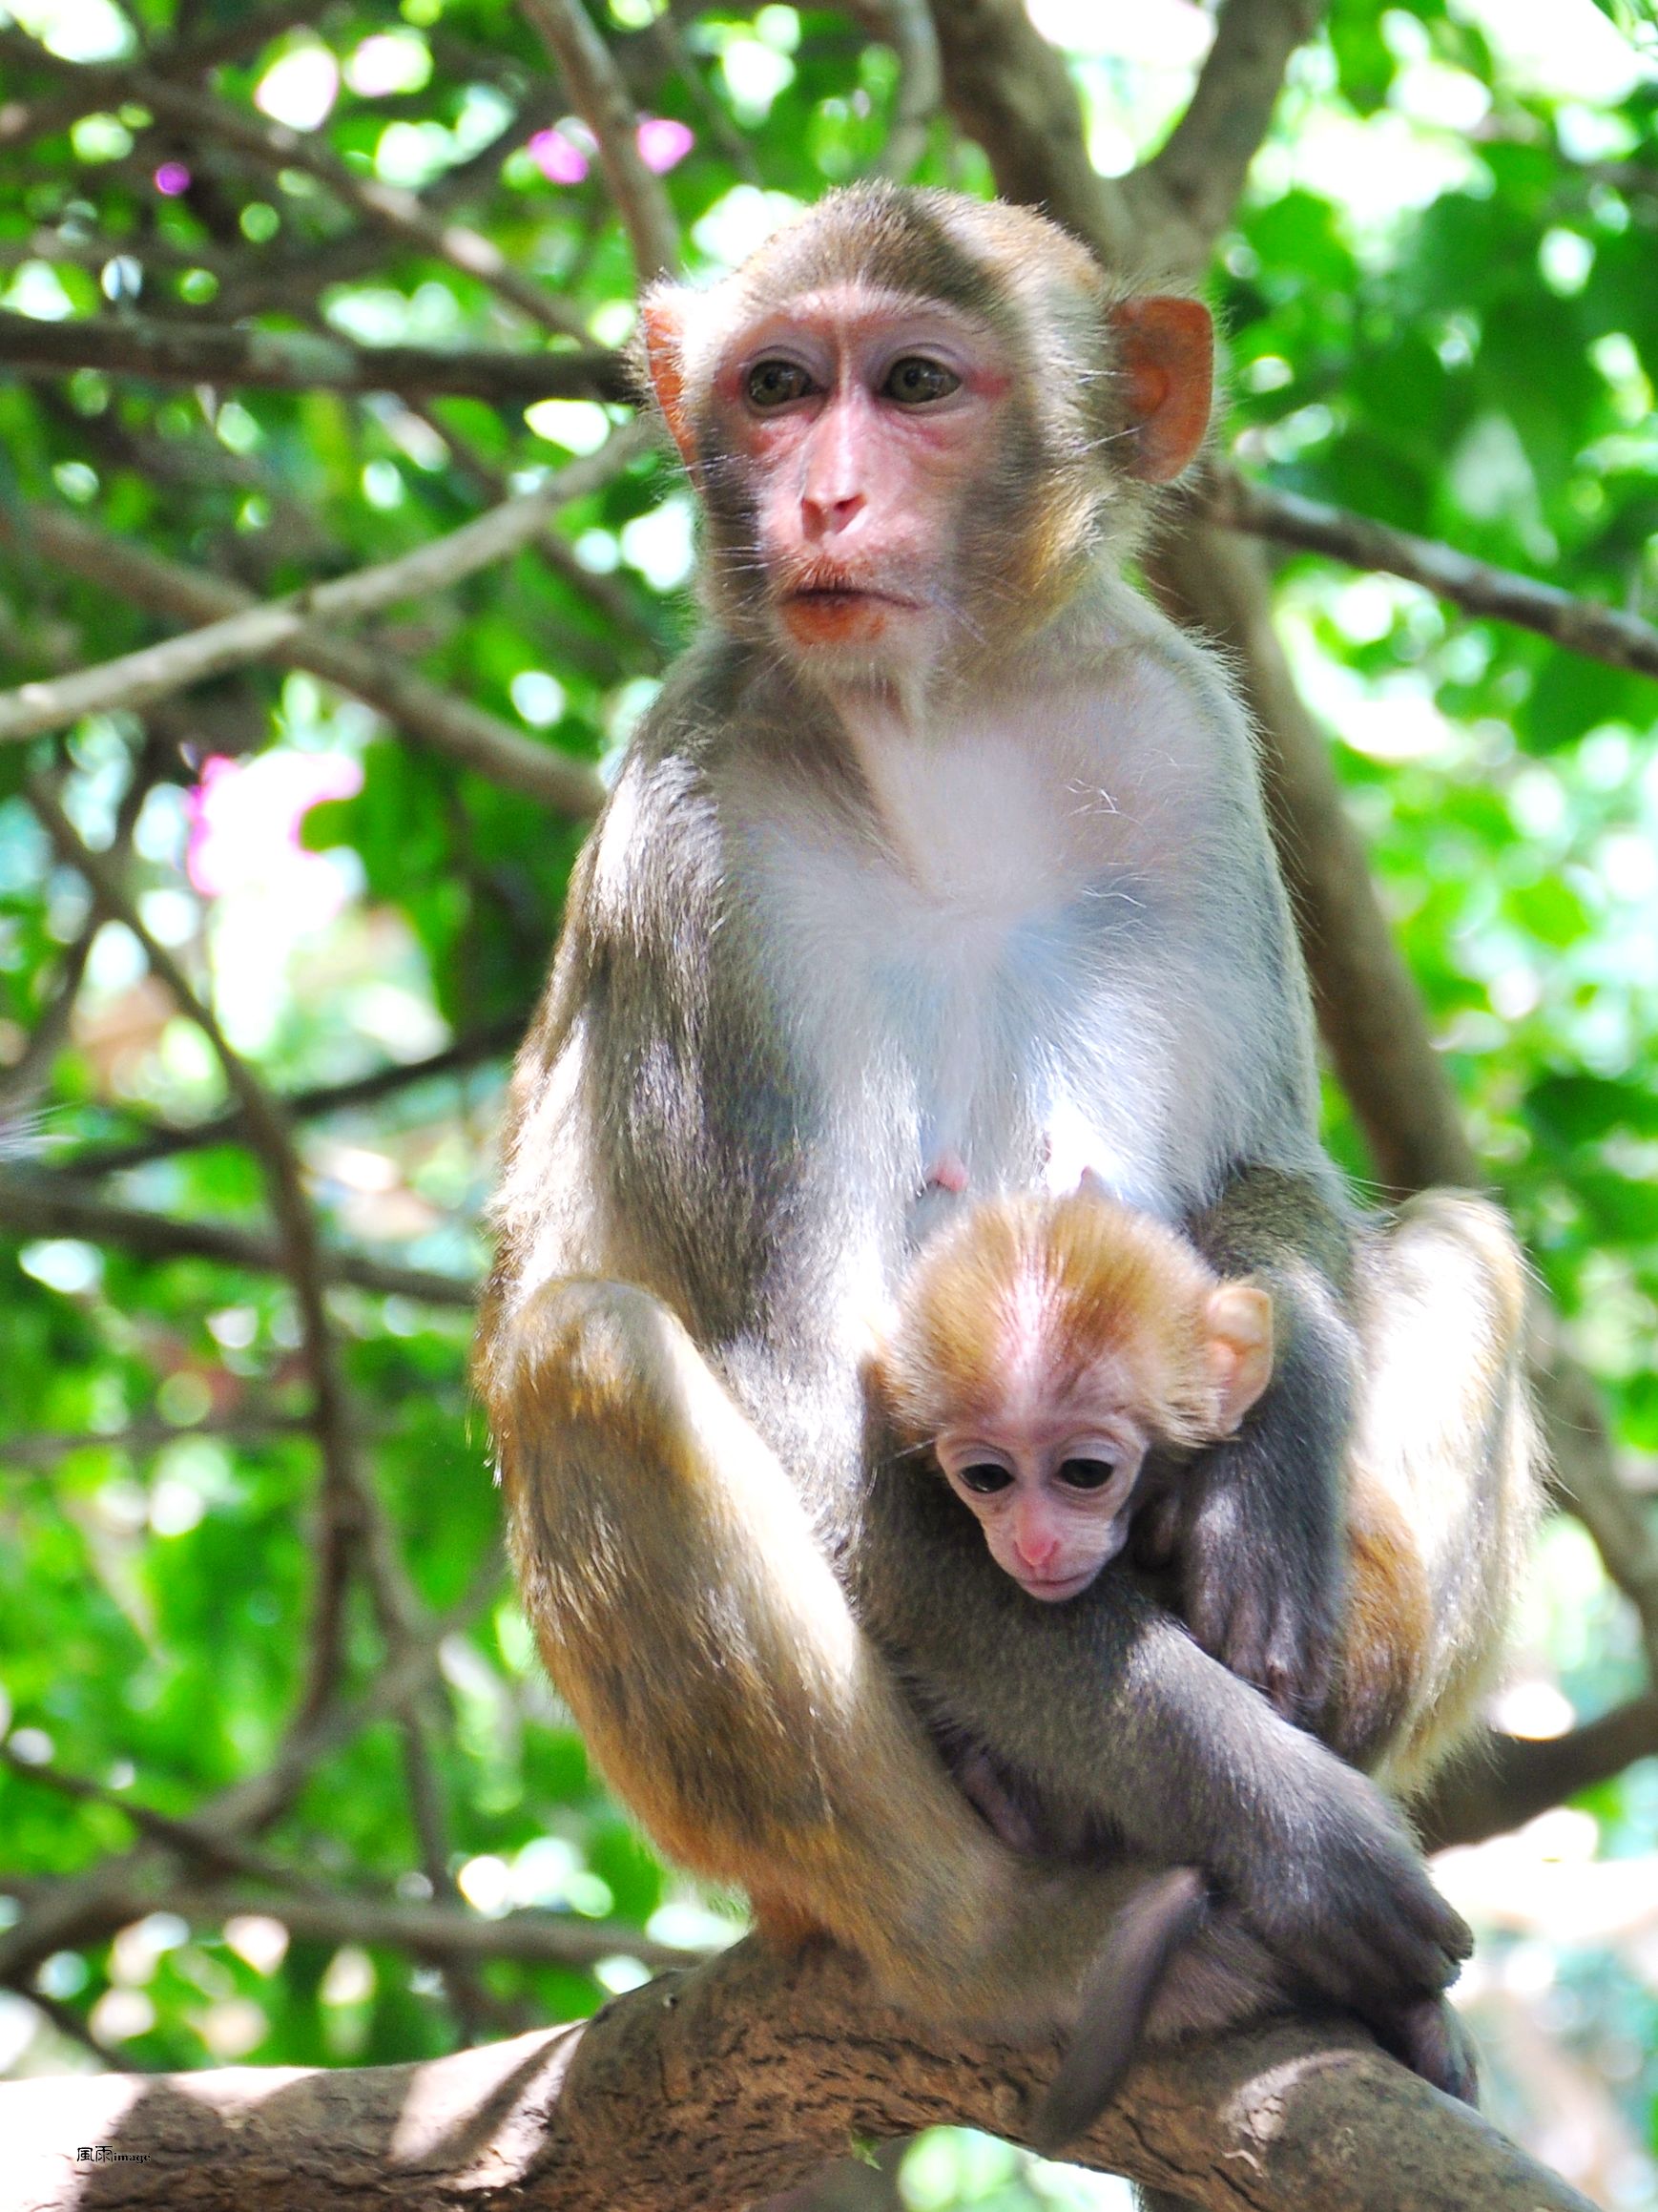
[[[1273,1307],[1085,1175],[993,1199],[922,1252],[875,1385],[990,1557],[1048,1604],[1127,1542],[1183,1455],[1234,1436],[1273,1371]]]

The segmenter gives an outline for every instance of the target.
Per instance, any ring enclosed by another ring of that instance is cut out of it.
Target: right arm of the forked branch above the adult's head
[[[1127,179],[1130,206],[1161,201],[1192,226],[1185,265],[1203,268],[1238,206],[1278,106],[1291,53],[1326,0],[1227,0],[1185,115],[1163,150]]]

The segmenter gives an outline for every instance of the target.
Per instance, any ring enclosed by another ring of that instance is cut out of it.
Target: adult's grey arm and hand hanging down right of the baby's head
[[[1311,1728],[1344,1619],[1355,1232],[1331,1181],[1269,1168],[1234,1175],[1187,1228],[1222,1274],[1271,1294],[1273,1380],[1238,1436],[1211,1444],[1145,1515],[1143,1557],[1174,1557],[1203,1650]]]

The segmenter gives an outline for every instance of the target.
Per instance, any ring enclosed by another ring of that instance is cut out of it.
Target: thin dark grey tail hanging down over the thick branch
[[[1123,1905],[1083,1982],[1070,2051],[1030,2130],[1032,2150],[1052,2159],[1112,2101],[1174,1953],[1207,1916],[1209,1891],[1196,1867],[1152,1876]]]

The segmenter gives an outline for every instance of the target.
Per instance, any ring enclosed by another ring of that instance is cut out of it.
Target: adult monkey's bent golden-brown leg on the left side
[[[486,1387],[548,1672],[661,1849],[933,2017],[1070,2017],[1127,1878],[1037,1871],[975,1816],[679,1321],[550,1283]]]

